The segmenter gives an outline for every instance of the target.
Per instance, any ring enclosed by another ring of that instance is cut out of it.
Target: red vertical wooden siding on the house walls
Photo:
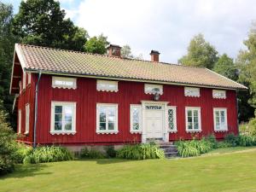
[[[25,137],[26,142],[32,142],[32,125],[34,118],[34,95],[37,75],[32,76],[32,84],[21,93],[19,108],[22,109],[22,132],[25,131],[25,106],[31,104],[30,133]],[[38,94],[38,143],[66,144],[106,144],[129,143],[141,141],[140,134],[130,133],[130,104],[141,104],[142,100],[152,100],[151,95],[144,94],[144,83],[119,81],[118,92],[96,90],[96,79],[79,78],[76,90],[58,89],[51,87],[51,76],[42,75]],[[213,99],[212,89],[201,88],[200,97],[184,96],[183,86],[164,85],[164,94],[160,101],[170,102],[177,106],[177,133],[170,133],[170,140],[189,139],[191,134],[185,131],[185,107],[201,107],[201,133],[199,137],[213,132],[213,108],[227,108],[229,132],[238,133],[236,117],[236,91],[227,90],[226,99]],[[75,135],[51,135],[50,110],[51,102],[77,102]],[[119,104],[119,133],[96,134],[96,103]],[[214,133],[222,138],[226,133]]]

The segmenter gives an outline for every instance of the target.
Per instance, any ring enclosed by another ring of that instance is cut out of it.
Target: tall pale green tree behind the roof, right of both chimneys
[[[208,42],[206,42],[202,34],[196,35],[191,39],[188,54],[183,55],[178,60],[185,66],[207,67],[212,69],[214,63],[218,61],[218,51]]]

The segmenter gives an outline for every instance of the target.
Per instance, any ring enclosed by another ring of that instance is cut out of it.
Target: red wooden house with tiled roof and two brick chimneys
[[[207,68],[15,45],[10,93],[24,143],[108,145],[238,133],[236,90]]]

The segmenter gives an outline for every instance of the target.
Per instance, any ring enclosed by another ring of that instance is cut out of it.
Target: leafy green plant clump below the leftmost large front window
[[[73,160],[73,154],[67,148],[57,146],[38,147],[32,150],[24,160],[24,164],[56,162],[63,160]]]

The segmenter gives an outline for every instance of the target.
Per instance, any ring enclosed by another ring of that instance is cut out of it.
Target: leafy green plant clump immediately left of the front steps
[[[163,159],[165,153],[155,144],[143,143],[125,145],[117,152],[117,157],[127,160]]]

